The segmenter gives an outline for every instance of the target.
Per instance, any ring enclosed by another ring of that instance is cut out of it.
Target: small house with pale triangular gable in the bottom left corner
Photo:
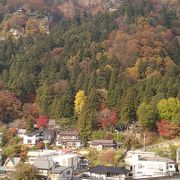
[[[16,166],[20,163],[20,161],[21,161],[21,158],[19,157],[7,158],[4,165],[0,167],[1,178],[5,177],[6,173],[15,171]]]

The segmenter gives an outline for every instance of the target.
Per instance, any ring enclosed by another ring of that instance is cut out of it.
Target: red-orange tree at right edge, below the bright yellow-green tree
[[[180,135],[180,127],[167,120],[161,120],[158,124],[159,135],[165,138],[175,138]]]

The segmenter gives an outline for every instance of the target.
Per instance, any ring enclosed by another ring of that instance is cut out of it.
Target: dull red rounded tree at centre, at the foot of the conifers
[[[116,111],[107,108],[100,111],[99,120],[98,120],[99,127],[103,129],[107,129],[116,125],[117,122],[118,122],[118,115]]]

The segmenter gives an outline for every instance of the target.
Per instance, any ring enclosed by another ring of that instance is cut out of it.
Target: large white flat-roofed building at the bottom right
[[[169,158],[148,154],[132,154],[132,172],[135,179],[170,176],[176,172],[176,164]]]

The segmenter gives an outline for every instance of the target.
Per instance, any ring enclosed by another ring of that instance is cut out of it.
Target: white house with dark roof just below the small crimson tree
[[[36,145],[40,141],[44,141],[44,143],[50,143],[51,132],[47,129],[36,130],[28,134],[25,134],[23,137],[23,144],[28,144],[30,146]]]

